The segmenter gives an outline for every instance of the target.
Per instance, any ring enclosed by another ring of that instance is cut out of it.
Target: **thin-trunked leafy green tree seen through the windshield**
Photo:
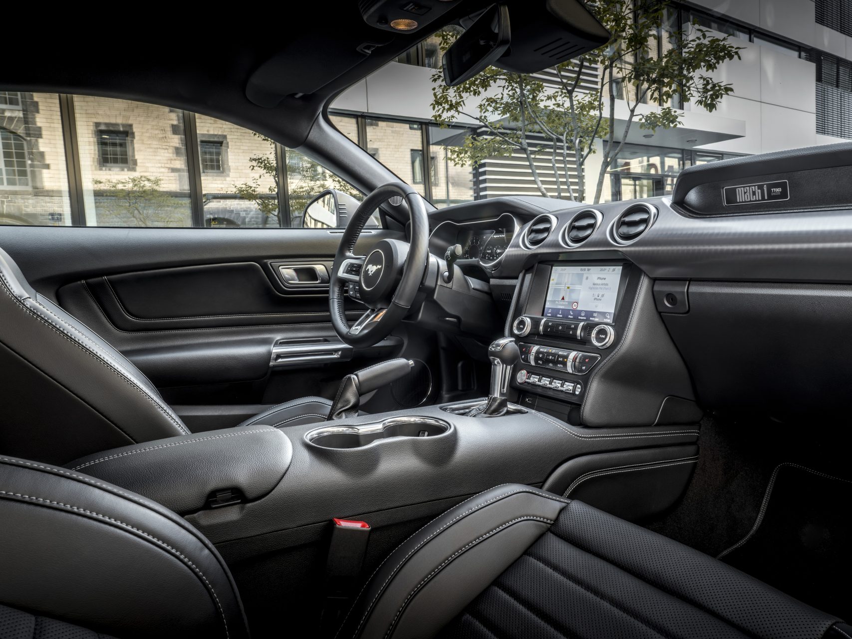
[[[602,142],[602,163],[594,201],[599,202],[607,170],[625,145],[634,123],[641,129],[669,129],[681,124],[676,100],[692,101],[708,111],[733,91],[708,72],[722,62],[740,58],[740,47],[728,37],[715,37],[697,25],[667,29],[668,0],[596,0],[590,10],[613,34],[607,45],[550,68],[553,82],[539,75],[506,72],[489,67],[467,82],[447,87],[440,70],[433,74],[433,118],[441,126],[461,117],[473,118],[484,135],[469,135],[449,155],[454,164],[480,164],[486,158],[520,151],[527,159],[539,193],[550,196],[539,176],[536,160],[549,158],[556,178],[556,197],[564,183],[569,199],[586,199],[586,163]],[[441,36],[441,48],[452,43]],[[660,50],[661,49],[661,50]],[[584,72],[596,70],[596,90],[582,87]],[[606,99],[605,99],[606,97]],[[616,100],[625,101],[627,116],[620,126]],[[479,101],[475,112],[470,101]],[[639,113],[644,103],[658,107]],[[578,178],[569,179],[574,156]],[[561,166],[560,166],[561,164]],[[575,198],[576,194],[576,198]]]

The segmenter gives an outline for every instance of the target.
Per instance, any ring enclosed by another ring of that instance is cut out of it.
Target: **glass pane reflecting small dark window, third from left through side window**
[[[279,172],[268,137],[210,116],[195,116],[204,225],[279,227]]]

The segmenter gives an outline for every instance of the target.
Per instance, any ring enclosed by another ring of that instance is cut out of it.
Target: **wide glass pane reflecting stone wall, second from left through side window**
[[[192,226],[182,112],[86,95],[73,102],[86,225]]]

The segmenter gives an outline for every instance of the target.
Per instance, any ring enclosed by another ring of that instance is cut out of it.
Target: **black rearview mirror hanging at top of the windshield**
[[[495,4],[458,37],[443,58],[444,82],[448,87],[473,78],[509,48],[509,9]]]

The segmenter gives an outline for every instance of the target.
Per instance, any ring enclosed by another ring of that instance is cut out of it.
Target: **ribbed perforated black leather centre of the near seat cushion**
[[[440,636],[820,639],[837,620],[697,550],[572,501]]]

